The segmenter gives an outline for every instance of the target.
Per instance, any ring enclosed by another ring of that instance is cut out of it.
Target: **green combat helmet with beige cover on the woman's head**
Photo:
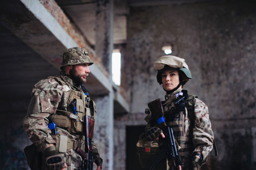
[[[185,62],[185,59],[176,56],[162,56],[155,61],[153,67],[157,70],[157,82],[159,84],[162,84],[161,72],[166,70],[179,70],[187,77],[187,79],[192,79],[191,72],[187,63]],[[183,82],[180,79],[180,83],[184,85],[186,82]]]

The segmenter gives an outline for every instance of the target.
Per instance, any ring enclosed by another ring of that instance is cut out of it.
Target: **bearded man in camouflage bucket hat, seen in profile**
[[[83,86],[91,64],[93,62],[84,48],[69,48],[63,54],[60,75],[35,84],[27,115],[23,119],[23,128],[36,148],[30,157],[33,147],[24,150],[31,169],[81,169],[82,158],[75,152],[77,147],[85,147],[81,120],[84,115],[94,118],[96,112],[95,103]],[[72,107],[74,101],[76,109]],[[56,124],[57,135],[51,134],[48,125],[50,118]],[[102,159],[93,140],[91,145],[94,163],[99,170]],[[48,159],[59,159],[59,162],[46,163]]]

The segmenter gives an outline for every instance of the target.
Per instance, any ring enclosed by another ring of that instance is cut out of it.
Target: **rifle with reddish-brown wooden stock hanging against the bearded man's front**
[[[93,149],[91,147],[91,139],[93,138],[94,119],[85,115],[83,124],[84,136],[86,138],[84,141],[85,149],[83,151],[78,147],[76,153],[82,157],[82,170],[93,170]]]

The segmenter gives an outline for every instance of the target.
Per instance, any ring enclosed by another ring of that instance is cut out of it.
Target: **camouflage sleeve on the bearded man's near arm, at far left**
[[[57,110],[62,96],[60,87],[53,79],[35,84],[27,115],[23,119],[23,129],[40,151],[56,143],[50,135],[47,118]]]

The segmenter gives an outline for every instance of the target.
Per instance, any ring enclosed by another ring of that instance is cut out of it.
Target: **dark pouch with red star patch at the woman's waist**
[[[146,138],[140,139],[136,143],[137,154],[139,155],[140,166],[146,167],[148,161],[154,156],[160,148],[158,141],[147,141]],[[167,159],[163,159],[158,163],[154,170],[167,170],[169,168]]]

